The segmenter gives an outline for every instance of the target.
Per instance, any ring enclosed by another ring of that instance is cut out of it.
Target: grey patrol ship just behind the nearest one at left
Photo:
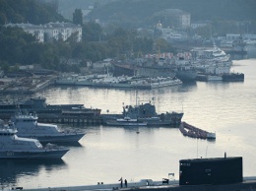
[[[24,138],[35,138],[40,142],[78,142],[85,133],[61,131],[57,125],[38,123],[37,115],[34,113],[17,113],[12,116],[11,121],[18,130],[17,135]]]

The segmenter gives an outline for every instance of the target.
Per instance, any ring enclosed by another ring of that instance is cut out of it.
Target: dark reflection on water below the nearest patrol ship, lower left
[[[62,159],[0,159],[0,183],[2,188],[23,186],[19,182],[23,176],[30,178],[40,171],[50,173],[65,167]]]

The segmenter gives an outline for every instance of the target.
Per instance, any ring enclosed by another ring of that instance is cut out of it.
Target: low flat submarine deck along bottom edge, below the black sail
[[[148,180],[148,181],[147,181]],[[148,183],[150,183],[148,185]],[[123,184],[123,187],[120,188],[120,183],[114,184],[104,184],[103,182],[97,182],[96,185],[85,185],[85,186],[69,186],[69,187],[48,187],[48,188],[34,188],[23,190],[28,191],[87,191],[87,190],[145,190],[145,191],[251,191],[256,187],[256,176],[244,177],[243,182],[232,183],[232,184],[218,184],[218,185],[189,185],[189,186],[180,186],[178,180],[170,180],[167,183],[163,181],[152,181],[151,179],[143,179],[140,182],[128,182],[127,188]],[[20,187],[21,188],[21,187]],[[16,189],[16,188],[14,188]]]

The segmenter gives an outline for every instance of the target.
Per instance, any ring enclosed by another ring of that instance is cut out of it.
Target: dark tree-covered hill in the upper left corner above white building
[[[57,1],[42,0],[0,0],[0,25],[7,23],[62,22],[64,18],[57,13]]]

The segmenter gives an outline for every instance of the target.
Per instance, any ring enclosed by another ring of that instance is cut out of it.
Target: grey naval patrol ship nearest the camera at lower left
[[[69,150],[36,139],[20,138],[13,125],[0,122],[0,159],[61,159]]]

